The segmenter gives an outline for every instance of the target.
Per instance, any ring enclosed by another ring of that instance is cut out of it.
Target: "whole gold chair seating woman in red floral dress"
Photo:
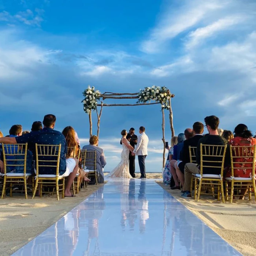
[[[256,201],[256,187],[255,187],[255,157],[256,157],[256,145],[254,146],[231,146],[231,177],[226,178],[226,200],[228,198],[229,182],[231,183],[230,190],[230,203],[233,202],[234,187],[236,188],[248,188],[249,200],[252,199],[252,188],[254,190],[254,196]],[[243,159],[241,162],[238,159]],[[252,177],[234,177],[235,169],[251,170]],[[240,196],[240,195],[238,195]]]

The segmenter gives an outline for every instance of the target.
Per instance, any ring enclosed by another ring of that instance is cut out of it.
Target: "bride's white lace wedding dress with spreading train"
[[[132,178],[129,172],[129,149],[123,144],[123,151],[121,153],[121,161],[118,165],[108,174],[108,178]],[[129,144],[129,142],[128,142]]]

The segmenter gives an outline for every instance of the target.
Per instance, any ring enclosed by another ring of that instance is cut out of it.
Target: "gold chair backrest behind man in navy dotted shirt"
[[[59,176],[60,151],[61,144],[35,144],[37,176],[40,174],[40,169],[47,170],[47,174],[56,174],[56,176]]]

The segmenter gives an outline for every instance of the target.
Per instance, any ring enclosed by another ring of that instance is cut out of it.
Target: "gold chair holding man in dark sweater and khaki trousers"
[[[223,187],[223,170],[227,145],[203,145],[200,143],[200,174],[195,176],[195,200],[199,202],[202,184],[211,189],[210,195],[222,196],[222,202],[225,203]],[[212,173],[219,171],[221,174],[203,174],[203,169],[212,169]],[[218,194],[214,193],[214,187],[218,187]],[[209,190],[210,192],[210,190]]]

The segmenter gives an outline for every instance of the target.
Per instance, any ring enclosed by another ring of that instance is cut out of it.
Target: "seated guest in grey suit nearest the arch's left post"
[[[87,151],[95,151],[96,150],[96,168],[99,173],[98,182],[104,183],[103,168],[106,165],[106,159],[105,159],[103,149],[97,146],[98,142],[99,142],[99,139],[97,136],[95,136],[95,135],[91,136],[89,142],[90,142],[90,145],[83,146],[83,149],[86,149]],[[93,169],[92,166],[89,166],[89,168]]]

